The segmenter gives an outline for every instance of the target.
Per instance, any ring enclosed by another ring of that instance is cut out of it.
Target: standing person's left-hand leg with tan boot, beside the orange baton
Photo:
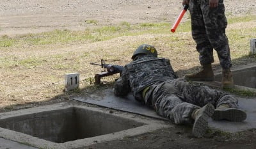
[[[191,0],[189,2],[189,12],[191,15],[192,37],[196,42],[196,50],[199,53],[202,70],[196,74],[185,75],[188,81],[213,81],[214,74],[211,63],[213,59],[213,48],[208,40],[200,1]]]

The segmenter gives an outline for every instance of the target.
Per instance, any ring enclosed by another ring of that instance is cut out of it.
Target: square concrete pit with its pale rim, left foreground
[[[0,137],[38,148],[79,148],[167,126],[131,113],[69,104],[0,114]]]

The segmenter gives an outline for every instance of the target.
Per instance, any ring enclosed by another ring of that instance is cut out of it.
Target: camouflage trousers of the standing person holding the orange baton
[[[230,68],[230,49],[225,34],[227,19],[223,0],[216,8],[209,8],[209,0],[190,0],[192,36],[196,42],[201,65],[214,61],[213,49],[216,50],[222,68]]]

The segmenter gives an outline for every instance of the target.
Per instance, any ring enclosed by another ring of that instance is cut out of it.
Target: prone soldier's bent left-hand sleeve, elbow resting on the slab
[[[131,91],[129,84],[129,72],[126,66],[124,67],[122,76],[115,82],[113,91],[116,96],[125,96]]]

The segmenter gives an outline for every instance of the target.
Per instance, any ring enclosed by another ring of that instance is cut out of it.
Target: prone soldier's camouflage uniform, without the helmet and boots
[[[144,97],[143,90],[147,90]],[[136,100],[154,107],[157,114],[175,123],[191,123],[191,113],[208,102],[216,107],[237,107],[237,99],[230,94],[177,79],[169,59],[150,55],[125,65],[122,77],[115,82],[116,96],[130,91]]]

